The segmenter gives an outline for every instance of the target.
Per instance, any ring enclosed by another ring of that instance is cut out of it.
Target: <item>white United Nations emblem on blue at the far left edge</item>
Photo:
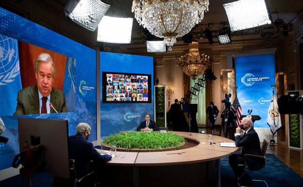
[[[0,34],[0,85],[7,85],[20,73],[18,40]]]

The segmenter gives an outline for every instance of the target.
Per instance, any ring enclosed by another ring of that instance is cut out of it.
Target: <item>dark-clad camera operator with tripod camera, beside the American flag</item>
[[[222,118],[222,127],[224,137],[227,137],[227,134],[229,135],[229,138],[234,140],[234,131],[235,131],[235,116],[231,110],[231,102],[230,98],[232,97],[232,94],[225,94],[225,99],[222,100],[222,103],[225,105],[225,109],[221,114]],[[220,131],[221,135],[221,131]]]

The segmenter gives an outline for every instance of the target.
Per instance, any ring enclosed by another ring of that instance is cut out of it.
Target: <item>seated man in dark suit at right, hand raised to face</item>
[[[235,134],[235,144],[237,147],[242,147],[242,153],[241,154],[232,154],[229,156],[229,163],[232,167],[232,170],[236,177],[241,177],[244,173],[244,167],[238,166],[244,165],[244,155],[245,154],[254,154],[254,155],[262,155],[261,148],[260,148],[260,140],[259,136],[256,133],[256,131],[253,129],[253,123],[251,118],[245,117],[241,120],[241,126],[236,128],[236,134]],[[241,136],[242,130],[244,132],[244,135]],[[246,162],[257,165],[257,160],[254,160],[253,158],[249,158],[246,160]],[[245,175],[241,178],[239,181],[241,186],[249,186],[251,184],[252,180],[250,176],[245,173]]]

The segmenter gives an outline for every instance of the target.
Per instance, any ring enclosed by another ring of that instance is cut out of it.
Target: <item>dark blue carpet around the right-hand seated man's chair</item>
[[[281,162],[274,154],[266,154],[266,166],[258,171],[248,171],[252,179],[265,180],[268,187],[303,187],[303,178]],[[254,187],[266,187],[254,182]],[[221,159],[221,187],[238,187],[228,157]]]

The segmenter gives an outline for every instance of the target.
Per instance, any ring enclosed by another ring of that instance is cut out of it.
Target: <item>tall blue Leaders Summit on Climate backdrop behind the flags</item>
[[[268,128],[271,85],[275,85],[275,54],[236,57],[235,73],[242,114],[247,115],[247,111],[252,110],[251,115],[261,117],[261,120],[254,122],[254,127]]]

